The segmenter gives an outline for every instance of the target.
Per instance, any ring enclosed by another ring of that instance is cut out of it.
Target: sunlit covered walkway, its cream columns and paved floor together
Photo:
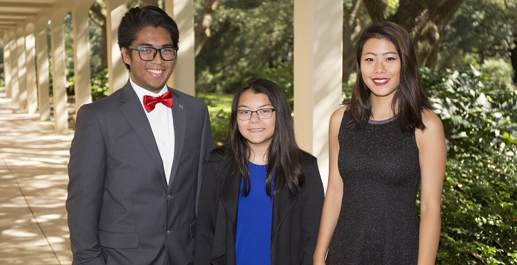
[[[6,83],[6,92],[0,92],[0,264],[72,262],[65,210],[72,132],[68,131],[66,107],[63,18],[68,13],[72,16],[74,99],[79,108],[92,100],[87,29],[88,8],[94,1],[0,0]],[[109,87],[116,89],[128,78],[114,34],[126,1],[105,2]],[[183,36],[181,59],[170,85],[194,94],[194,3],[163,3]],[[296,137],[303,149],[318,157],[325,183],[328,118],[341,102],[342,25],[341,2],[294,0],[294,101],[304,106],[295,110],[295,116],[303,117],[295,119]],[[48,34],[52,65],[47,57]],[[53,87],[53,122],[49,83]]]

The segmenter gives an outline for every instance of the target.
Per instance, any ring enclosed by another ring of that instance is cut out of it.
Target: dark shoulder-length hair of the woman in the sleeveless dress
[[[366,86],[361,75],[361,54],[369,39],[390,41],[395,45],[401,58],[401,83],[392,100],[392,109],[398,116],[397,120],[401,130],[425,129],[422,122],[422,110],[432,109],[432,106],[422,89],[415,48],[407,31],[401,25],[389,21],[369,25],[356,44],[356,83],[354,83],[349,105],[352,114],[349,127],[359,129],[372,116],[372,101],[370,100],[372,92]]]

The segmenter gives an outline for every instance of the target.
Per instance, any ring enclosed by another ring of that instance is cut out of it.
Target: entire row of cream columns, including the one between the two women
[[[40,11],[0,28],[6,96],[29,114],[50,119],[49,72],[55,131],[68,132],[63,19],[72,16],[75,103],[92,102],[88,10],[95,0],[54,0],[31,4]],[[19,1],[23,2],[23,1]],[[109,92],[122,87],[128,71],[120,56],[116,30],[127,11],[125,0],[106,0]],[[11,3],[14,5],[14,3]],[[1,8],[1,6],[0,6]],[[165,12],[181,32],[178,62],[168,84],[194,95],[194,3],[163,0]],[[47,56],[50,25],[52,67]],[[327,131],[330,115],[341,103],[343,2],[294,0],[294,127],[298,144],[318,157],[321,173],[327,173]]]

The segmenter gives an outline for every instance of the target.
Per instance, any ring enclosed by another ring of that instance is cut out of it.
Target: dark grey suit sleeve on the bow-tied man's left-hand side
[[[106,171],[105,145],[94,112],[83,105],[77,112],[74,138],[68,163],[68,228],[72,247],[72,264],[104,264],[99,244]]]

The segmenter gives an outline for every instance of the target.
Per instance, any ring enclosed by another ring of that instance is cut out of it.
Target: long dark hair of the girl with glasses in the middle
[[[265,191],[273,198],[285,186],[298,195],[298,188],[303,186],[305,177],[301,166],[301,150],[296,145],[294,138],[293,120],[291,110],[282,90],[276,83],[264,78],[250,78],[246,83],[238,87],[234,92],[232,102],[232,116],[230,118],[230,132],[228,147],[225,148],[225,156],[230,156],[236,164],[237,176],[243,178],[242,196],[250,194],[250,171],[248,170],[248,158],[250,157],[250,145],[241,135],[237,125],[237,104],[244,92],[265,94],[274,107],[276,115],[274,133],[270,147],[267,149],[267,171],[265,177]],[[272,181],[274,180],[274,187]]]

